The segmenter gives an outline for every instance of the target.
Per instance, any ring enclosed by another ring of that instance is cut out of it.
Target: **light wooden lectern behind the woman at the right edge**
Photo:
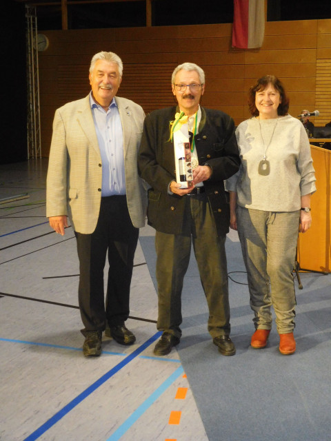
[[[312,227],[299,233],[297,260],[299,270],[331,272],[330,178],[331,150],[310,145],[316,174],[317,191],[312,195]]]

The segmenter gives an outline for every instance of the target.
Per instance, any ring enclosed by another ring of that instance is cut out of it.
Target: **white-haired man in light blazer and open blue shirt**
[[[105,329],[122,345],[135,341],[125,321],[134,252],[146,214],[146,189],[137,170],[145,114],[133,101],[115,96],[122,72],[117,54],[95,54],[89,75],[92,91],[57,109],[53,123],[46,216],[61,235],[69,216],[77,238],[85,356],[101,355]]]

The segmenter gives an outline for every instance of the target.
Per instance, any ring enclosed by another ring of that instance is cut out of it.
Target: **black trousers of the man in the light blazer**
[[[75,232],[79,257],[79,309],[86,331],[103,331],[129,315],[130,283],[139,229],[132,225],[126,196],[101,198],[92,234]],[[106,307],[103,269],[108,252]]]

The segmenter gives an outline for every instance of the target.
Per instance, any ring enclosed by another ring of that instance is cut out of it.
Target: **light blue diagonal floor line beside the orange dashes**
[[[158,387],[148,399],[141,404],[136,411],[132,413],[129,418],[121,426],[119,426],[116,431],[108,438],[107,441],[118,441],[121,436],[126,433],[132,427],[132,425],[143,415],[144,412],[147,411],[147,409],[154,404],[154,402],[159,398],[159,396],[162,395],[164,391],[168,389],[168,387],[171,386],[171,384],[174,382],[174,380],[177,380],[177,378],[183,373],[183,367],[178,367],[172,375],[161,384],[160,387]]]

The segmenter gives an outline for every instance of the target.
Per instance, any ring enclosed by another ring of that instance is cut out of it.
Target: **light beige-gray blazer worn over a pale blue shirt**
[[[123,127],[126,194],[134,227],[145,225],[146,184],[139,178],[137,154],[145,114],[140,105],[115,97]],[[69,216],[74,231],[91,234],[101,203],[102,163],[90,95],[56,110],[46,188],[46,216]]]

